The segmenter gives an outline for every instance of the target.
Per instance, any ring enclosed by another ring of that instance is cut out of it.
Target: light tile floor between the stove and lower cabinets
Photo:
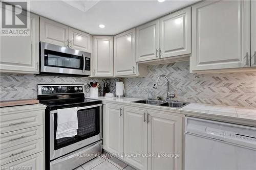
[[[106,152],[102,156],[96,157],[73,170],[136,170],[121,160],[111,157]]]

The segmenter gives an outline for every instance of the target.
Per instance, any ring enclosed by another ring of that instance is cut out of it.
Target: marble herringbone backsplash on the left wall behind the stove
[[[111,92],[115,92],[116,81],[118,79],[96,79],[89,77],[58,77],[58,76],[36,76],[22,74],[0,74],[0,94],[1,101],[36,99],[37,84],[90,84],[98,82],[99,95],[103,93],[103,83],[110,84]],[[89,91],[89,88],[86,89]]]

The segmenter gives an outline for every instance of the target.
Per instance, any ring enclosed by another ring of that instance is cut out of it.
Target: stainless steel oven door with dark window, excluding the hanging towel
[[[102,104],[78,107],[78,129],[74,137],[55,139],[57,110],[50,111],[50,160],[102,139]]]

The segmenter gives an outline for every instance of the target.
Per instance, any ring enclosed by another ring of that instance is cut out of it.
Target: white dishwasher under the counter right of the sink
[[[256,128],[186,117],[185,169],[256,169]]]

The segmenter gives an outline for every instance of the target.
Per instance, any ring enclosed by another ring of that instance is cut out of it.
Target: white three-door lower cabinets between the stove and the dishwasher
[[[123,153],[137,169],[182,169],[182,120],[170,112],[104,104],[103,149]]]

